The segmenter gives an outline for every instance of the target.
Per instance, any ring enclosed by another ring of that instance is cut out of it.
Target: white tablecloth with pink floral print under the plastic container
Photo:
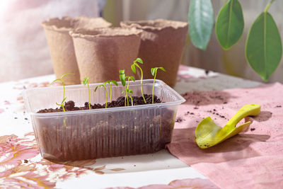
[[[217,188],[167,150],[84,161],[42,159],[21,92],[48,86],[52,80],[54,75],[0,84],[0,188]],[[185,93],[258,84],[180,66],[175,90]]]

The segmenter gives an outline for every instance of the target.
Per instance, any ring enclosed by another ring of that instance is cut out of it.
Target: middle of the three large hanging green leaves
[[[229,0],[219,11],[215,33],[224,50],[231,48],[243,34],[243,10],[238,0]]]

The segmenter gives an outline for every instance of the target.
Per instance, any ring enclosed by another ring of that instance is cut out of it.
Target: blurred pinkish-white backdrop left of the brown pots
[[[98,17],[97,0],[1,0],[0,82],[52,74],[42,21],[62,16]]]

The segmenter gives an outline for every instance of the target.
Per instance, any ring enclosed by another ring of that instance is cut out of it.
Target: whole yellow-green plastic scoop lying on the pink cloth
[[[248,104],[244,105],[238,112],[227,122],[224,127],[219,127],[214,123],[212,118],[204,118],[195,129],[195,142],[201,149],[212,147],[225,139],[233,137],[235,134],[246,130],[251,122],[245,122],[243,125],[236,127],[239,121],[249,115],[258,115],[260,113],[260,105]]]

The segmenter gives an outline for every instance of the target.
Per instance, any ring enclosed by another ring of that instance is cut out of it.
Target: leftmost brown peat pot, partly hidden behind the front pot
[[[62,19],[50,18],[49,21],[43,21],[42,26],[45,29],[56,77],[60,78],[63,74],[73,73],[74,76],[64,78],[65,84],[80,84],[73,40],[69,35],[69,31],[76,28],[91,30],[93,28],[110,27],[111,23],[108,23],[103,18],[88,18],[85,16],[70,18],[66,16]]]

